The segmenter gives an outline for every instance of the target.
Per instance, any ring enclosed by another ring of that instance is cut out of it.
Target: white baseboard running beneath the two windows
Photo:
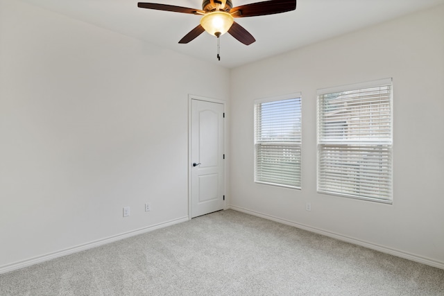
[[[268,214],[262,214],[262,213],[259,213],[257,211],[252,211],[250,209],[244,209],[244,208],[236,207],[236,206],[232,206],[232,205],[230,205],[228,208],[229,209],[233,209],[234,211],[241,211],[241,212],[246,213],[246,214],[250,214],[250,215],[257,216],[257,217],[260,217],[260,218],[264,218],[264,219],[267,219],[267,220],[273,220],[275,222],[282,223],[282,224],[285,224],[285,225],[290,225],[290,226],[293,226],[293,227],[296,227],[296,228],[300,228],[300,229],[304,229],[304,230],[307,230],[309,232],[314,232],[316,234],[322,234],[323,236],[328,236],[328,237],[331,237],[331,238],[336,238],[339,241],[345,241],[347,243],[352,243],[352,244],[355,244],[355,245],[360,245],[362,247],[367,247],[368,249],[376,250],[376,251],[383,252],[383,253],[386,253],[386,254],[391,254],[393,256],[398,256],[400,258],[408,259],[408,260],[411,260],[411,261],[415,261],[415,262],[422,263],[422,264],[425,264],[425,265],[430,265],[430,266],[433,266],[433,267],[436,267],[436,268],[441,268],[441,269],[444,270],[444,262],[440,262],[440,261],[436,261],[436,260],[433,260],[433,259],[425,258],[425,257],[418,256],[418,255],[415,255],[415,254],[410,254],[408,252],[404,252],[404,251],[401,251],[401,250],[395,250],[395,249],[392,249],[390,247],[384,247],[382,245],[376,245],[374,243],[368,243],[366,241],[360,241],[360,240],[358,240],[356,238],[352,238],[352,237],[349,237],[349,236],[343,236],[342,234],[336,234],[334,232],[328,232],[328,231],[323,230],[323,229],[318,229],[316,227],[311,227],[311,226],[308,226],[308,225],[303,225],[303,224],[300,224],[300,223],[296,223],[296,222],[293,222],[293,221],[290,221],[290,220],[285,220],[285,219],[278,218],[278,217],[275,217],[275,216],[271,216],[271,215],[268,215]]]

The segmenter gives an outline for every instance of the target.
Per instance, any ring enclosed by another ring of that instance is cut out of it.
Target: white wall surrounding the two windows
[[[393,205],[316,193],[316,89],[390,77]],[[444,268],[444,6],[233,69],[230,81],[234,209]],[[253,182],[253,100],[292,92],[302,92],[300,191]]]

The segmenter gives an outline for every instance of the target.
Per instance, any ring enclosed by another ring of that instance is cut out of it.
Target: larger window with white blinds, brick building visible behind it
[[[318,192],[391,203],[391,78],[318,89]]]

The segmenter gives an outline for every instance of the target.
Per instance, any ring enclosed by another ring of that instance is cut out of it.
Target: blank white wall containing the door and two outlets
[[[186,218],[188,94],[228,100],[229,71],[0,5],[0,269]]]

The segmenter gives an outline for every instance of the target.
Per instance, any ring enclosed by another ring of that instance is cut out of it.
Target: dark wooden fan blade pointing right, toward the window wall
[[[269,0],[234,7],[230,10],[233,17],[257,17],[274,15],[296,9],[296,0]]]

